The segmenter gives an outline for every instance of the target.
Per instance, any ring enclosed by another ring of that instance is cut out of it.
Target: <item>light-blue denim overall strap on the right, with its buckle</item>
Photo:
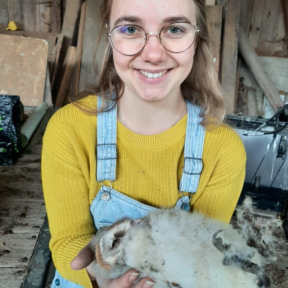
[[[200,125],[201,108],[186,101],[187,126],[184,144],[184,167],[180,180],[179,191],[195,193],[198,189],[202,172],[202,154],[205,129]]]

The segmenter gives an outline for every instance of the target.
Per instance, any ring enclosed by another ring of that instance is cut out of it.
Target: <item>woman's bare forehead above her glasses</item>
[[[161,26],[167,24],[167,19],[173,18],[180,19],[179,21],[187,19],[192,24],[196,24],[194,1],[113,0],[110,25],[113,27],[122,24],[122,22],[127,22],[125,19],[133,19],[132,22],[137,24]]]

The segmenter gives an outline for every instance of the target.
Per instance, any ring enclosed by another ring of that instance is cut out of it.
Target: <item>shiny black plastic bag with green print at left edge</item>
[[[21,149],[20,97],[0,94],[0,165],[14,165]]]

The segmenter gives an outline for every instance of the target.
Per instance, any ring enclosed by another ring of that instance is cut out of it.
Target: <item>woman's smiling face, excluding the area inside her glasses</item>
[[[193,0],[113,0],[109,32],[122,24],[140,26],[146,33],[160,32],[165,25],[181,21],[196,25]],[[195,42],[186,51],[173,53],[161,45],[158,34],[147,37],[146,46],[135,55],[123,55],[113,47],[123,97],[148,102],[180,99],[180,85],[193,65]]]

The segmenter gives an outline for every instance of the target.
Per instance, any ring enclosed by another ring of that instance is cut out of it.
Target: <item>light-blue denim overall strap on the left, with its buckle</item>
[[[115,99],[115,95],[113,95]],[[102,105],[102,97],[98,96],[97,108]],[[113,107],[111,101],[107,110]],[[109,111],[97,115],[97,181],[116,180],[116,134],[117,134],[117,105]]]

